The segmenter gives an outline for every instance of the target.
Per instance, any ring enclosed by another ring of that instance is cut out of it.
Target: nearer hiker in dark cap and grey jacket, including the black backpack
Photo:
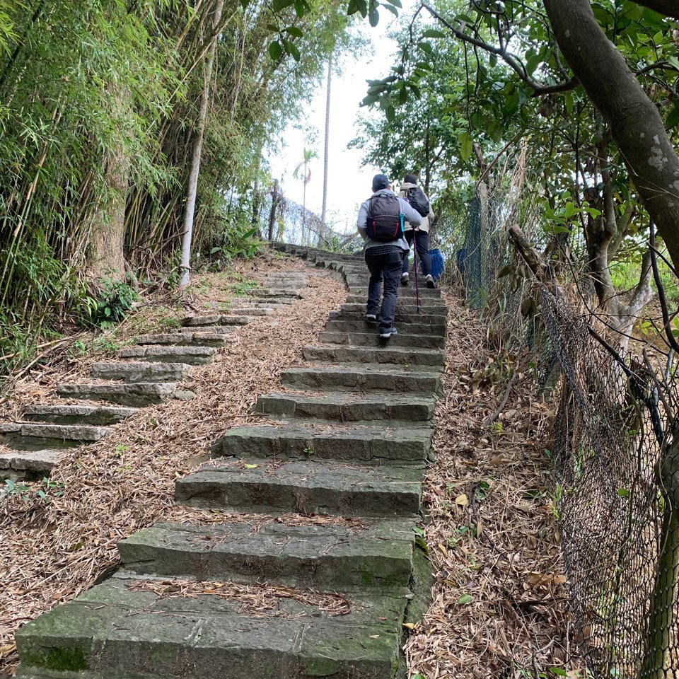
[[[387,175],[375,175],[372,189],[373,195],[361,204],[356,220],[356,227],[364,240],[366,265],[370,272],[365,318],[368,323],[379,320],[380,337],[388,340],[397,332],[394,317],[398,282],[403,257],[410,250],[403,235],[403,225],[407,221],[412,226],[419,226],[422,217],[395,195]]]

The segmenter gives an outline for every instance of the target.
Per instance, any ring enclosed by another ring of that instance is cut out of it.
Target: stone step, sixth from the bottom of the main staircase
[[[281,381],[293,389],[327,391],[367,390],[431,394],[439,390],[439,373],[379,366],[308,366],[286,368]]]

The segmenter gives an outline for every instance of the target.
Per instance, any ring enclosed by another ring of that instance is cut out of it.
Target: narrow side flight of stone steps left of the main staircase
[[[188,316],[173,332],[137,337],[134,347],[118,352],[120,361],[93,364],[92,381],[59,385],[57,395],[69,405],[30,406],[20,422],[0,422],[0,443],[11,449],[0,451],[0,480],[40,480],[65,448],[103,439],[140,407],[170,398],[190,400],[193,393],[182,382],[192,366],[211,362],[228,335],[294,303],[305,286],[303,273],[268,274],[247,296],[221,305],[228,313],[217,308]]]

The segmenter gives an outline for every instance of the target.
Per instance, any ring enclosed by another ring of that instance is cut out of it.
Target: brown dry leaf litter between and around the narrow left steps
[[[144,407],[117,424],[106,439],[66,451],[50,477],[56,485],[47,491],[49,501],[37,499],[35,493],[28,500],[16,495],[0,500],[0,676],[11,675],[18,662],[14,630],[91,586],[117,562],[118,540],[156,521],[202,518],[214,523],[217,517],[219,522],[255,526],[267,520],[176,507],[174,484],[225,431],[260,420],[252,412],[257,396],[279,388],[280,371],[301,359],[301,349],[313,344],[327,313],[344,302],[347,291],[339,279],[295,258],[267,257],[240,264],[236,272],[263,282],[269,272],[293,270],[307,274],[303,299],[240,327],[228,336],[214,363],[192,368],[184,383],[195,392],[190,403],[170,400]],[[192,313],[214,312],[209,303],[228,301],[238,290],[232,274],[195,277],[192,297],[182,300],[184,307]],[[150,308],[141,313],[141,320],[124,324],[118,343],[154,327],[163,330],[166,315],[154,321]],[[172,311],[165,308],[163,313]],[[57,397],[54,388],[91,381],[89,368],[101,359],[101,353],[55,358],[50,368],[40,368],[13,385],[0,402],[0,420],[13,419],[31,403],[68,402]],[[314,518],[277,520],[304,523]],[[359,522],[349,523],[361,528]]]

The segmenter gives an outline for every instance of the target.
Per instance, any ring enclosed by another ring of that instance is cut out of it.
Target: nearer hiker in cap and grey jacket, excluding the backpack
[[[419,213],[412,209],[405,200],[398,198],[400,214],[395,214],[393,219],[400,219],[400,224],[395,221],[397,229],[395,229],[393,240],[385,241],[371,238],[368,235],[368,222],[373,219],[372,207],[376,204],[376,199],[388,196],[396,198],[391,190],[389,178],[383,174],[375,175],[373,177],[373,195],[361,204],[359,217],[356,220],[356,228],[358,228],[359,234],[364,240],[363,248],[366,265],[368,265],[368,271],[370,272],[365,318],[368,323],[377,323],[379,320],[380,337],[383,340],[388,340],[389,337],[396,335],[397,332],[394,327],[394,317],[396,313],[398,281],[400,279],[403,257],[410,250],[410,246],[403,235],[402,224],[405,224],[407,221],[412,226],[417,227],[422,223],[422,217],[419,216]],[[381,293],[383,293],[383,298],[380,308]]]

